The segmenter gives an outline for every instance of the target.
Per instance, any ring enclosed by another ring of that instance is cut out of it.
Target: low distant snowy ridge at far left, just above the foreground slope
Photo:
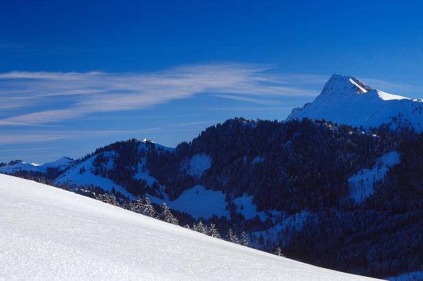
[[[16,173],[18,171],[34,171],[34,172],[45,173],[47,172],[47,168],[55,168],[55,167],[63,171],[72,162],[73,160],[67,157],[62,157],[58,160],[55,160],[54,162],[48,162],[41,165],[36,163],[15,161],[0,167],[0,173]]]

